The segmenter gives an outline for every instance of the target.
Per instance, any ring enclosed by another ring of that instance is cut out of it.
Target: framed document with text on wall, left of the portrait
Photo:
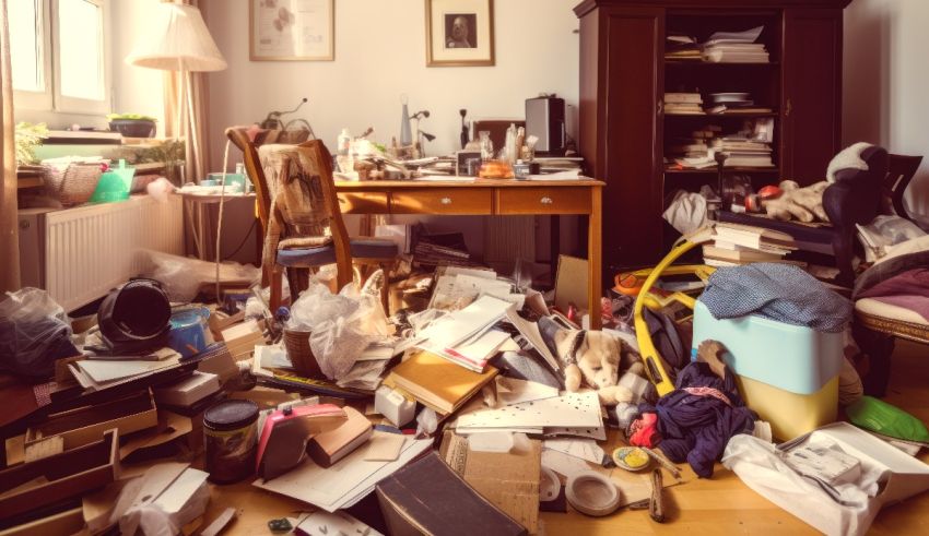
[[[251,61],[336,59],[334,0],[248,0]]]

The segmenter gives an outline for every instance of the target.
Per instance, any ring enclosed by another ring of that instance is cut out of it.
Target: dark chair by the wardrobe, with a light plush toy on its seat
[[[855,283],[851,261],[858,233],[856,224],[867,225],[891,207],[899,216],[910,218],[903,206],[903,195],[922,157],[893,155],[881,147],[871,147],[862,154],[862,159],[868,162],[867,171],[843,169],[823,192],[823,209],[830,225],[810,226],[730,212],[720,213],[719,219],[787,233],[800,251],[835,258],[835,266],[839,270],[836,283],[851,287]]]

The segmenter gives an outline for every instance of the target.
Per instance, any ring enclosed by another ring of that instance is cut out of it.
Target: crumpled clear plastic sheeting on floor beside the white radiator
[[[148,252],[154,269],[150,276],[160,282],[172,301],[188,302],[197,297],[204,283],[215,283],[216,265],[199,259]],[[245,282],[252,284],[261,278],[261,270],[251,264],[224,262],[220,264],[221,282]]]

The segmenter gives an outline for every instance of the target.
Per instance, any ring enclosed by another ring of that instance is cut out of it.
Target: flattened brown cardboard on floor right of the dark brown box
[[[446,432],[442,443],[445,462],[527,531],[538,532],[541,443],[530,440],[525,452],[479,452],[468,443],[467,437]]]

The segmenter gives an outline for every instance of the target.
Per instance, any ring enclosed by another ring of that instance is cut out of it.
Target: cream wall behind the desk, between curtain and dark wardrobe
[[[261,121],[304,96],[309,102],[291,117],[307,119],[332,148],[342,128],[358,134],[374,127],[372,139],[381,143],[399,138],[400,96],[405,94],[411,114],[431,111],[420,124],[436,135],[426,145],[431,155],[460,148],[460,108],[469,120],[521,118],[526,98],[541,92],[577,105],[578,36],[573,32],[578,21],[572,11],[577,0],[496,0],[496,64],[468,68],[426,67],[422,0],[337,0],[334,61],[249,61],[248,0],[201,2],[230,64],[210,74],[211,165],[216,170],[226,127]],[[231,162],[239,159],[237,151],[230,154]],[[414,218],[395,222],[402,219]],[[482,253],[482,218],[421,219],[433,233],[465,233],[472,253]],[[562,249],[568,253],[576,243],[576,218],[562,221]],[[538,241],[546,248],[546,229]]]

